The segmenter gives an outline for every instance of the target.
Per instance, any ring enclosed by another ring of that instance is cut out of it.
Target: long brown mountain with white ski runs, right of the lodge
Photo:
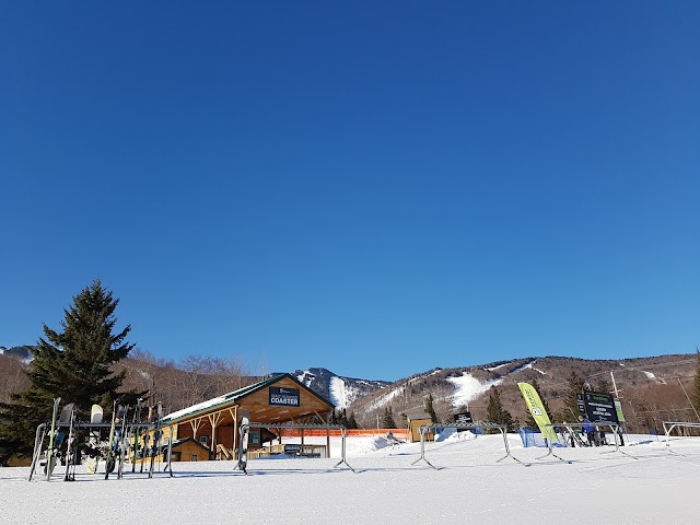
[[[698,365],[696,354],[668,354],[623,360],[585,360],[564,357],[520,358],[475,366],[433,369],[406,377],[381,389],[357,396],[348,410],[364,427],[375,427],[388,406],[397,424],[405,416],[423,411],[425,398],[442,421],[469,410],[475,420],[486,420],[489,389],[497,387],[503,406],[520,421],[526,407],[518,382],[537,380],[552,412],[561,415],[571,372],[576,372],[595,392],[617,387],[628,422],[640,430],[660,428],[662,421],[696,421],[686,393],[692,395]],[[614,384],[615,382],[615,384]],[[685,389],[685,392],[684,392]],[[567,416],[569,421],[576,415]]]

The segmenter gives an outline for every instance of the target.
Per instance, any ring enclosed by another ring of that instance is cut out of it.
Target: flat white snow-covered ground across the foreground
[[[621,448],[629,455],[604,454],[611,446],[558,448],[564,463],[537,459],[547,451],[509,436],[529,467],[497,463],[500,435],[460,434],[427,444],[438,469],[411,465],[419,443],[386,446],[382,436],[349,440],[355,472],[334,468],[338,439],[332,459],[254,459],[247,476],[232,462],[174,464],[174,478],[127,468],[124,479],[105,481],[79,470],[74,482],[27,482],[27,468],[0,468],[0,523],[698,523],[700,439],[674,439],[675,453],[655,436],[631,441]]]

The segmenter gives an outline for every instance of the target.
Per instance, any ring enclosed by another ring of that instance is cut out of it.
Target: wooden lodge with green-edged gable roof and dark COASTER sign
[[[249,413],[250,422],[293,423],[312,417],[318,424],[324,424],[329,421],[334,408],[329,400],[292,375],[281,374],[172,412],[162,423],[165,435],[172,429],[173,460],[231,459],[236,457],[244,410]],[[255,453],[277,438],[265,428],[250,428],[248,451]]]

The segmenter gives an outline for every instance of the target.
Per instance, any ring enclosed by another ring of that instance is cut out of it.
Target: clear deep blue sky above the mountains
[[[698,2],[4,2],[0,345],[396,380],[700,343]]]

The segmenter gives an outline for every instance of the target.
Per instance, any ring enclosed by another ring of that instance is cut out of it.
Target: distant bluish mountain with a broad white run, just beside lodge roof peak
[[[342,377],[327,369],[296,370],[292,375],[316,394],[330,400],[339,410],[348,408],[361,397],[390,385],[387,381]]]

